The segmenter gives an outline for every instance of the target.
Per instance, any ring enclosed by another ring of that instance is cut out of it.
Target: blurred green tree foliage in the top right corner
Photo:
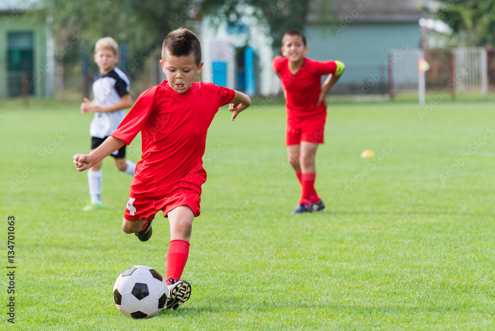
[[[436,15],[466,46],[495,44],[495,0],[439,0]]]

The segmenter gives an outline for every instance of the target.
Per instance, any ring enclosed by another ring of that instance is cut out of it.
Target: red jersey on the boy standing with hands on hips
[[[302,66],[293,75],[289,70],[289,59],[276,56],[272,61],[273,70],[280,74],[287,92],[286,109],[288,118],[304,117],[325,113],[325,104],[317,105],[321,92],[321,76],[337,71],[335,61],[315,61],[304,57]]]

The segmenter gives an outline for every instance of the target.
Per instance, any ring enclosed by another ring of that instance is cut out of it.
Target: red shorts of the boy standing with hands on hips
[[[285,143],[298,145],[301,142],[323,143],[325,135],[326,113],[287,121]]]

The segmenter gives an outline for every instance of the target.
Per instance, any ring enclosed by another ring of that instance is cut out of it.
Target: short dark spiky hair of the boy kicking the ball
[[[198,37],[189,29],[180,28],[170,32],[163,40],[161,60],[165,61],[167,52],[174,56],[194,54],[196,65],[201,62],[201,45]]]

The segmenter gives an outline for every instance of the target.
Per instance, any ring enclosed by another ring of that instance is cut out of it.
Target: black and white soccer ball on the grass
[[[168,287],[163,276],[147,266],[124,270],[113,285],[113,301],[117,309],[134,319],[150,318],[163,310]]]

